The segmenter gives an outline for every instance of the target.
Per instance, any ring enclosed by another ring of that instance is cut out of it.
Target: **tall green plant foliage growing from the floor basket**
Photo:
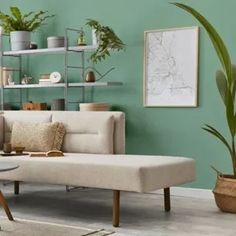
[[[224,41],[222,40],[216,29],[207,21],[205,17],[203,17],[192,7],[181,3],[173,4],[192,14],[203,25],[211,39],[211,42],[222,65],[222,69],[216,72],[216,84],[225,107],[226,123],[230,133],[230,138],[227,139],[220,131],[218,131],[211,125],[206,125],[205,127],[203,127],[203,129],[215,136],[226,146],[232,161],[233,177],[236,179],[236,65],[232,64],[229,52],[225,46]]]

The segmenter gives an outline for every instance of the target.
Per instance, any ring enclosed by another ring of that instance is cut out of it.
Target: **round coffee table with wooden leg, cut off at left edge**
[[[0,161],[0,172],[14,170],[18,167],[19,166],[17,164],[14,164],[12,162]],[[12,217],[12,214],[10,212],[10,209],[7,205],[6,199],[4,198],[1,190],[0,190],[0,204],[3,206],[3,208],[4,208],[4,210],[7,214],[8,219],[11,220],[11,221],[14,220],[13,217]]]

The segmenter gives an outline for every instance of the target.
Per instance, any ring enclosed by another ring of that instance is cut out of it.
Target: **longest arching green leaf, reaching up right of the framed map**
[[[189,7],[187,5],[181,4],[181,3],[172,3],[175,6],[184,9],[185,11],[189,12],[190,14],[192,14],[206,29],[213,45],[214,48],[216,50],[216,53],[218,55],[218,58],[224,68],[224,71],[227,75],[227,79],[229,82],[229,86],[231,87],[231,83],[232,83],[232,63],[231,63],[231,59],[228,53],[228,50],[223,42],[223,40],[221,39],[220,35],[217,33],[217,31],[215,30],[215,28],[208,22],[208,20],[202,16],[199,12],[197,12],[195,9],[193,9],[192,7]]]

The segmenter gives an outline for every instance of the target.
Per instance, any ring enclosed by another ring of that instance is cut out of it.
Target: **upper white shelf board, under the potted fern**
[[[69,50],[76,52],[86,52],[93,51],[96,49],[94,45],[88,46],[73,46],[69,47]],[[65,47],[60,48],[40,48],[40,49],[29,49],[29,50],[20,50],[20,51],[5,51],[3,56],[19,56],[19,55],[42,55],[42,54],[63,54],[66,52]]]

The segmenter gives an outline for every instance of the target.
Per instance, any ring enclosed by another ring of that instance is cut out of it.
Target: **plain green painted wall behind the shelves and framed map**
[[[169,0],[1,0],[2,11],[17,5],[24,11],[48,10],[56,14],[34,40],[41,47],[46,46],[46,37],[63,35],[65,27],[81,27],[85,19],[94,18],[110,25],[126,43],[126,51],[114,54],[112,58],[98,65],[100,71],[112,66],[116,70],[106,79],[122,81],[123,87],[97,88],[88,91],[88,97],[95,101],[110,102],[115,110],[122,110],[127,117],[127,152],[132,154],[160,154],[192,157],[197,162],[197,180],[189,187],[212,188],[215,173],[210,165],[222,171],[231,171],[230,158],[224,147],[206,134],[200,127],[210,123],[225,129],[222,102],[215,85],[215,71],[219,62],[213,47],[201,27],[199,54],[199,106],[197,108],[144,108],[143,98],[143,32],[151,29],[185,27],[198,25],[190,15],[173,5]],[[235,58],[235,0],[185,0],[198,9],[219,30],[224,38],[232,59]],[[232,30],[231,30],[232,29]],[[87,31],[89,29],[86,29]],[[73,38],[73,37],[72,37]],[[76,35],[74,36],[76,40]],[[90,40],[87,35],[88,41]],[[71,59],[74,60],[73,58]],[[26,62],[25,62],[26,63]],[[53,70],[63,71],[63,57],[32,58],[30,73]],[[71,79],[78,79],[74,72]],[[32,100],[50,100],[60,96],[62,91],[34,90]],[[92,94],[92,95],[91,95]],[[9,99],[16,94],[9,93]],[[71,91],[71,100],[78,100],[79,90]]]

